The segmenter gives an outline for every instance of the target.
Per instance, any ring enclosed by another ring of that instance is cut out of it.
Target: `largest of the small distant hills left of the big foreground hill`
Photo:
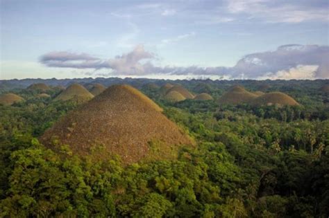
[[[86,101],[94,98],[92,93],[90,93],[81,84],[74,83],[71,84],[67,89],[60,92],[60,94],[54,99],[55,101],[62,100],[81,100]]]

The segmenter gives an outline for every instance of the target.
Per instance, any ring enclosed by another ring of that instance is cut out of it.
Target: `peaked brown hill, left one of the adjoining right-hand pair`
[[[219,98],[218,102],[221,105],[239,105],[251,102],[251,100],[255,98],[257,98],[257,96],[254,93],[246,91],[242,86],[235,85],[230,87],[230,89]]]

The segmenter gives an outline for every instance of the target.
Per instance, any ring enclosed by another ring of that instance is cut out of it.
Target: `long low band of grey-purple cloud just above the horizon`
[[[276,51],[244,56],[233,67],[155,66],[155,54],[136,46],[130,53],[101,60],[85,53],[51,52],[40,57],[50,67],[71,69],[108,69],[101,75],[216,75],[219,78],[315,79],[329,78],[329,46],[289,44]]]

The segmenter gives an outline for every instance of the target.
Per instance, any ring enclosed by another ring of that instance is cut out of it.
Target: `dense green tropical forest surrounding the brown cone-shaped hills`
[[[0,106],[0,217],[329,215],[328,80],[47,80],[49,89],[26,89],[35,82],[1,82],[1,93],[24,100]],[[120,156],[94,158],[101,146],[77,155],[71,145],[43,145],[47,129],[85,104],[54,100],[72,82],[132,85],[194,145],[179,147],[175,158],[128,164]],[[164,98],[167,83],[212,99]],[[219,103],[236,84],[280,91],[298,104]]]

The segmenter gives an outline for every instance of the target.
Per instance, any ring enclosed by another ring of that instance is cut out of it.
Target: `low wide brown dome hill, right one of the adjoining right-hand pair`
[[[299,105],[294,98],[280,91],[265,93],[258,98],[255,98],[252,105]]]

